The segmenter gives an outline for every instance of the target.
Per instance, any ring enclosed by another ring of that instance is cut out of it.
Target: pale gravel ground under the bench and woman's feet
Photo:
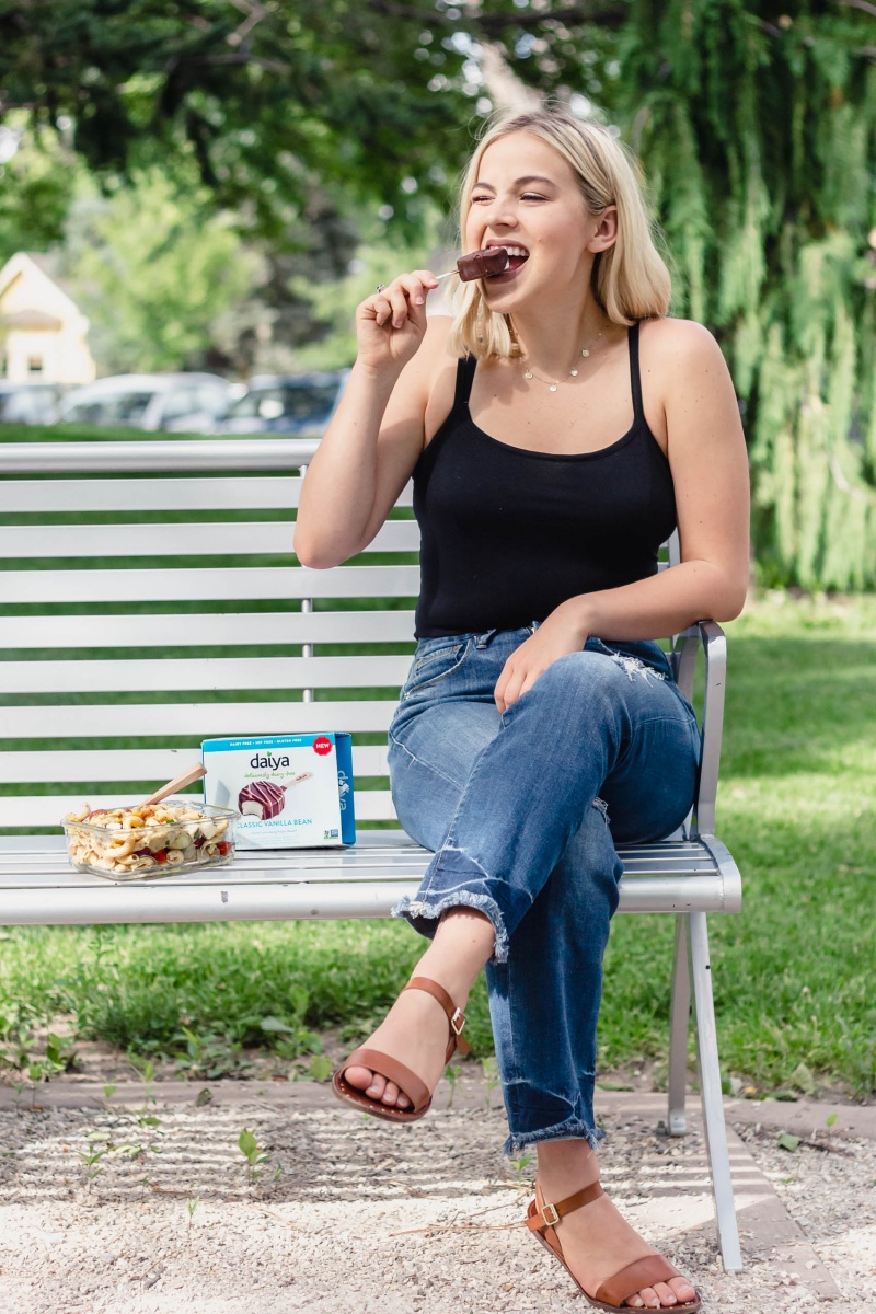
[[[257,1083],[201,1105],[197,1087],[167,1102],[160,1085],[156,1102],[130,1092],[108,1102],[100,1087],[91,1108],[5,1100],[0,1309],[580,1314],[569,1277],[520,1226],[531,1166],[499,1152],[504,1117],[485,1106],[496,1092],[460,1085],[456,1108],[410,1127],[345,1113],[322,1089]],[[443,1088],[437,1102],[447,1099]],[[693,1277],[707,1314],[784,1314],[831,1294],[834,1309],[872,1307],[872,1139],[834,1133],[830,1148],[791,1154],[775,1127],[738,1123],[747,1268],[726,1275],[699,1135],[654,1135],[633,1097],[615,1096],[602,1121],[605,1185]],[[255,1172],[238,1146],[243,1127],[265,1155]],[[777,1222],[756,1213],[764,1205]]]

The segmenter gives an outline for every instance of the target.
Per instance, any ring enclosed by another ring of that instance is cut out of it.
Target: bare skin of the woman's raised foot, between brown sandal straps
[[[429,1091],[435,1091],[445,1068],[448,1038],[447,1016],[437,1000],[424,991],[406,989],[365,1045],[398,1059]],[[380,1072],[369,1068],[348,1067],[344,1070],[344,1079],[357,1091],[364,1091],[369,1100],[380,1100],[398,1109],[407,1109],[411,1104],[394,1081],[387,1081]]]

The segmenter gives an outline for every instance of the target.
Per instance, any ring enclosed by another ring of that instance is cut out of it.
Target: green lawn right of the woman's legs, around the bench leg
[[[743,911],[709,934],[721,1059],[760,1089],[876,1089],[876,599],[767,597],[728,627],[718,833]],[[619,918],[602,1056],[665,1054],[670,926]]]

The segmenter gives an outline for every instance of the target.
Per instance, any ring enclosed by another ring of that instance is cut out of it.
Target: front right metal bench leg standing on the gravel
[[[742,1271],[742,1252],[739,1250],[739,1229],[733,1202],[728,1134],[724,1122],[718,1038],[714,1025],[709,934],[705,925],[705,913],[690,913],[690,928],[691,979],[693,983],[693,1007],[696,1012],[700,1089],[703,1092],[703,1123],[705,1126],[705,1143],[712,1168],[712,1190],[714,1192],[718,1243],[721,1246],[724,1268],[728,1273],[738,1273]]]

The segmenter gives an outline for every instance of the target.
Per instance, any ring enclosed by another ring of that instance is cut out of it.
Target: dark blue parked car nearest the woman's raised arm
[[[349,378],[348,369],[256,374],[217,422],[219,434],[322,434]]]

